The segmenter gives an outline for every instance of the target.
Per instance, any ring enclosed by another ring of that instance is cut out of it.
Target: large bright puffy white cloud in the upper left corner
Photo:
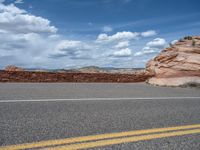
[[[28,14],[15,5],[0,4],[0,29],[15,33],[55,33],[48,19]]]

